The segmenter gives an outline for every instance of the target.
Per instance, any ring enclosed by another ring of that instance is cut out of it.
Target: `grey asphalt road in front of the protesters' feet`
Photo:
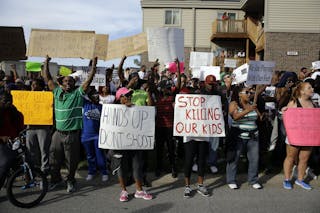
[[[222,173],[222,172],[221,172]],[[283,174],[260,174],[260,182],[264,188],[256,190],[246,183],[246,174],[239,175],[242,183],[238,190],[231,190],[225,184],[223,174],[206,176],[205,185],[211,192],[210,197],[203,197],[194,191],[193,197],[183,198],[183,174],[172,178],[170,174],[155,178],[150,173],[152,187],[146,188],[154,199],[145,201],[133,197],[134,185],[128,187],[131,193],[129,202],[119,201],[120,187],[116,177],[102,183],[100,177],[86,182],[85,171],[77,173],[78,190],[68,194],[63,186],[47,193],[40,205],[31,209],[21,209],[11,205],[0,191],[0,213],[32,212],[32,213],[87,213],[87,212],[215,212],[215,213],[319,213],[320,181],[312,180],[311,191],[294,186],[292,190],[282,188]],[[192,175],[192,183],[196,183],[196,175]],[[195,189],[196,185],[192,185]]]

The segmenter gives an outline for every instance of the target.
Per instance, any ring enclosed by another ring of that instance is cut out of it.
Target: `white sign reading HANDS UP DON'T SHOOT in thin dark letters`
[[[113,150],[153,149],[155,108],[103,104],[99,148]]]

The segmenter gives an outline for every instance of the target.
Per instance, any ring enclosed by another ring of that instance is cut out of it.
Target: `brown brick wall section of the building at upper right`
[[[297,72],[301,67],[311,67],[320,57],[319,33],[265,33],[265,61],[275,61],[276,70]],[[287,55],[298,52],[297,56]]]

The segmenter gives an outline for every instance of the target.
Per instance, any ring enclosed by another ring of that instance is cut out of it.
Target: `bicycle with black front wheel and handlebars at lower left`
[[[9,201],[21,208],[31,208],[39,204],[48,191],[46,175],[38,168],[31,166],[27,158],[25,144],[26,130],[19,137],[9,139],[8,146],[16,153],[16,162],[10,168],[6,192]]]

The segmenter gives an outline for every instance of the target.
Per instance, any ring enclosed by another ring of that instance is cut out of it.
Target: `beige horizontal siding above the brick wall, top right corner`
[[[265,32],[320,33],[320,0],[266,0]]]

